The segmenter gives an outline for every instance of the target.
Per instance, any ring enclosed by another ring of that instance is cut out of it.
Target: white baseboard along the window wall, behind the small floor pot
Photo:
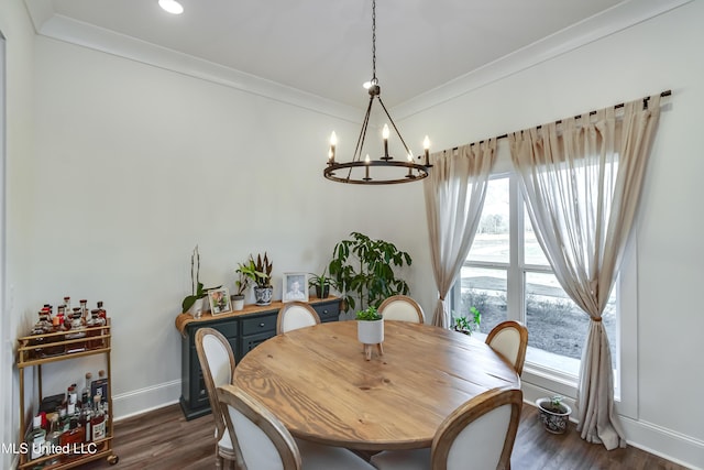
[[[524,402],[530,406],[536,406],[536,400],[540,397],[556,394],[550,390],[526,381],[522,382],[521,389]],[[573,409],[570,420],[576,423],[574,400],[565,397],[564,402]],[[618,416],[626,434],[626,442],[629,446],[637,447],[692,470],[704,470],[704,441],[652,423],[632,419],[623,415]]]

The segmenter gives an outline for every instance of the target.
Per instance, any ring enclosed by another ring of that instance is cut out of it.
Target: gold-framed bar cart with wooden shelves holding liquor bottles
[[[112,392],[111,381],[112,374],[110,371],[110,350],[111,350],[111,334],[110,334],[110,319],[108,318],[106,325],[88,327],[80,329],[84,335],[74,338],[69,331],[51,332],[44,335],[33,335],[18,338],[18,359],[16,367],[20,375],[20,442],[24,440],[24,433],[26,431],[25,423],[25,409],[24,409],[24,369],[36,367],[38,378],[38,397],[42,402],[42,364],[57,361],[66,361],[76,358],[94,354],[106,354],[107,358],[107,403],[108,413],[106,415],[108,424],[106,426],[105,438],[90,442],[87,452],[80,452],[76,455],[54,453],[50,456],[43,456],[30,460],[28,453],[20,455],[20,464],[18,469],[31,469],[37,466],[44,464],[44,469],[69,469],[78,467],[88,461],[106,458],[108,462],[114,464],[118,462],[119,457],[113,453],[112,438]]]

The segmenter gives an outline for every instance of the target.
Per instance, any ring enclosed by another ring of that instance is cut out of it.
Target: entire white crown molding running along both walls
[[[693,0],[628,0],[393,107],[409,118]],[[57,14],[52,0],[24,1],[37,34],[359,123],[360,110],[314,94]]]

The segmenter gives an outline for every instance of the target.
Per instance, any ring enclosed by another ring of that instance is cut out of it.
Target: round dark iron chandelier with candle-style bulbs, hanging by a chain
[[[356,141],[356,147],[354,149],[352,161],[336,161],[336,147],[338,145],[338,139],[333,131],[332,135],[330,135],[328,166],[322,172],[324,177],[338,183],[350,183],[359,185],[388,185],[398,183],[410,183],[427,177],[428,168],[432,166],[430,165],[430,141],[428,140],[428,136],[426,135],[426,139],[424,141],[424,164],[414,163],[414,155],[410,149],[408,149],[408,145],[406,145],[406,142],[400,135],[398,128],[386,110],[386,106],[384,106],[384,101],[382,101],[381,87],[378,86],[378,79],[376,78],[376,0],[372,0],[372,79],[364,84],[364,87],[369,90],[370,102],[366,107],[364,120],[362,121],[362,130],[360,131],[360,136]],[[406,151],[406,159],[394,160],[394,157],[388,154],[388,136],[391,133],[388,124],[384,124],[384,129],[382,131],[382,139],[384,141],[384,154],[378,160],[371,160],[369,154],[366,154],[366,156],[362,159],[362,151],[364,147],[364,141],[366,139],[366,131],[369,129],[370,114],[372,112],[374,99],[376,99],[382,106],[382,109],[388,118],[392,128],[396,132],[396,135],[398,135],[398,139],[400,140],[400,143]],[[420,156],[418,159],[420,159]],[[374,168],[375,177],[372,177],[370,171],[371,168]]]

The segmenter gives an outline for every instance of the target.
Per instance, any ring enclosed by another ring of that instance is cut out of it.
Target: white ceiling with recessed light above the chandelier
[[[84,45],[99,43],[103,33],[132,37],[332,101],[366,105],[371,0],[180,2],[185,12],[172,15],[156,0],[25,0],[40,34]],[[378,0],[382,96],[394,107],[492,64],[608,34],[609,22],[626,28],[662,3],[668,2]],[[61,34],[51,28],[57,21],[64,24]]]

